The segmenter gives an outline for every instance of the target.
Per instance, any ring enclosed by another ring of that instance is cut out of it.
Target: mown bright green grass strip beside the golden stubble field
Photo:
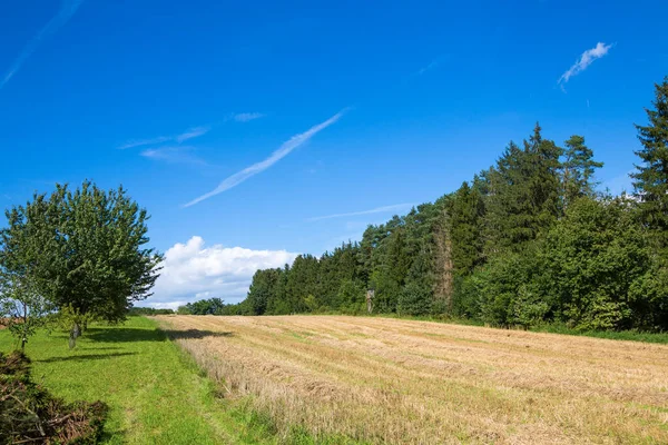
[[[0,330],[0,350],[13,338]],[[107,444],[257,444],[267,434],[227,409],[216,387],[157,329],[132,317],[94,326],[70,352],[63,334],[41,333],[26,349],[33,377],[68,400],[101,399],[111,412]]]

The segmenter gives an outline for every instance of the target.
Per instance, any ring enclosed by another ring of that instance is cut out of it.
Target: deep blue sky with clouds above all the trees
[[[632,123],[668,75],[665,1],[0,11],[0,205],[56,181],[122,184],[170,254],[157,306],[237,300],[254,268],[455,189],[537,120],[559,142],[583,135],[619,191]]]

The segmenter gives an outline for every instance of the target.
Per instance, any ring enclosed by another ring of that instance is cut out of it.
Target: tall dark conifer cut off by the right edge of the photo
[[[657,247],[668,249],[668,76],[655,86],[654,109],[646,109],[648,125],[636,125],[642,148],[636,151],[633,187],[642,220],[654,231]],[[665,257],[665,255],[664,255]]]

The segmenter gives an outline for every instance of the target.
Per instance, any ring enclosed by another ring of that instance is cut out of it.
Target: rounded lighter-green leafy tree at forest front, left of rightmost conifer
[[[631,202],[581,198],[547,237],[549,288],[561,318],[581,329],[621,329],[644,318],[631,288],[651,267],[646,231]]]

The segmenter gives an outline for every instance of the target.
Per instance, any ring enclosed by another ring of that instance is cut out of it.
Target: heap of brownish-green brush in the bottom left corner
[[[0,354],[0,443],[95,444],[107,411],[102,402],[53,397],[30,379],[24,354]]]

